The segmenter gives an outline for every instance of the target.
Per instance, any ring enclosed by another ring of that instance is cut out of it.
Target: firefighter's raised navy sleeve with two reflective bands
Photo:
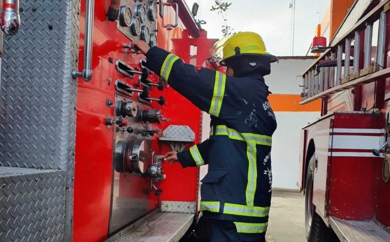
[[[241,108],[238,97],[243,93],[242,82],[221,72],[185,64],[179,57],[157,47],[147,53],[147,67],[159,74],[173,89],[209,114],[233,120]],[[240,80],[241,81],[241,80]],[[251,90],[246,90],[251,92]]]

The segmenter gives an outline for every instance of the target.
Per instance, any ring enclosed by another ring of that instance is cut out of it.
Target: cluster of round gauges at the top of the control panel
[[[121,0],[117,28],[131,41],[157,46],[158,5],[155,0]]]

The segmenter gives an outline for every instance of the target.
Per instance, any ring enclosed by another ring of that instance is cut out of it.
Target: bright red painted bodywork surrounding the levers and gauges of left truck
[[[80,26],[80,51],[79,63],[83,63],[84,52],[84,19],[85,19],[85,0],[82,1],[81,8],[81,26]],[[115,70],[115,64],[110,60],[120,59],[127,64],[138,67],[139,58],[124,54],[123,43],[130,41],[116,29],[116,22],[106,20],[106,11],[110,1],[95,1],[94,26],[93,26],[93,77],[91,82],[78,80],[78,99],[77,99],[77,124],[76,124],[76,166],[75,166],[75,190],[74,190],[74,241],[102,241],[108,237],[110,203],[113,181],[113,129],[106,128],[106,116],[114,115],[114,108],[106,106],[106,100],[114,100],[115,97],[115,79],[120,78],[128,84],[137,86],[138,75],[134,79],[125,78]],[[180,1],[179,1],[180,2]],[[180,5],[179,5],[180,6]],[[182,12],[182,11],[181,11]],[[180,16],[183,16],[183,12]],[[174,12],[168,16],[174,19]],[[181,19],[181,23],[190,26],[187,19]],[[189,30],[183,31],[184,26],[172,31],[167,31],[158,25],[158,45],[168,51],[173,49],[172,38],[180,42],[184,37],[189,43],[196,39],[188,38],[192,35]],[[207,47],[215,40],[207,40],[205,32],[200,36],[199,44],[206,45],[204,48],[198,48],[198,56],[206,58],[209,55]],[[189,56],[189,50],[179,50],[176,54],[184,59]],[[80,66],[81,68],[81,66]],[[154,81],[157,80],[153,76]],[[200,141],[201,131],[201,112],[189,101],[171,88],[166,88],[163,92],[157,90],[151,91],[150,96],[165,96],[167,105],[161,107],[153,103],[153,107],[163,109],[164,116],[169,117],[170,121],[165,122],[157,128],[164,130],[169,125],[187,125],[196,134],[196,142]],[[136,97],[135,97],[136,98]],[[167,144],[160,143],[158,137],[152,141],[152,150],[156,154],[165,154],[170,151]],[[157,184],[163,188],[164,192],[158,197],[150,193],[149,211],[158,207],[160,200],[173,201],[196,201],[198,169],[182,169],[180,165],[164,165],[164,171],[167,179]],[[119,177],[124,179],[124,177]],[[121,196],[135,196],[131,192],[132,188],[120,188]]]

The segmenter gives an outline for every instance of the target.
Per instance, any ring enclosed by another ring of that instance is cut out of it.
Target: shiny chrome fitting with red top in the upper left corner
[[[19,31],[19,0],[3,0],[3,11],[0,23],[3,32],[7,35],[14,35]]]

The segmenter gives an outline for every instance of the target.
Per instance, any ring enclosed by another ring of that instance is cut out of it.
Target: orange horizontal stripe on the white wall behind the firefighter
[[[274,112],[320,112],[321,100],[316,100],[305,105],[299,105],[301,95],[271,94],[268,96]]]

